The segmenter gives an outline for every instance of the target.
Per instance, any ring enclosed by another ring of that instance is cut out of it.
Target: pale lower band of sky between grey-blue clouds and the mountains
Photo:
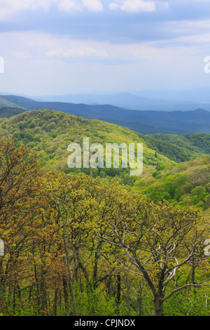
[[[203,82],[209,55],[209,42],[206,48],[167,41],[111,44],[31,31],[0,32],[0,39],[6,60],[1,91],[29,95],[190,86]]]

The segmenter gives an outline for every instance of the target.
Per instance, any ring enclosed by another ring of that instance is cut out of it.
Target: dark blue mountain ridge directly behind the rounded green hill
[[[143,134],[210,133],[210,112],[202,109],[187,112],[140,111],[125,110],[114,105],[39,102],[17,95],[0,95],[0,98],[27,110],[59,110],[87,119],[101,119]]]

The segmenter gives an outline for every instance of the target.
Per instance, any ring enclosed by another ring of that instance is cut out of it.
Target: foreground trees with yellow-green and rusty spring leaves
[[[1,315],[208,315],[200,211],[115,178],[45,173],[35,152],[0,142]]]

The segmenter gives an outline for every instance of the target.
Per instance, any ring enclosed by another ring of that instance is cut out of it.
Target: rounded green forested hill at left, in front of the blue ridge
[[[46,169],[69,171],[67,147],[75,142],[83,145],[83,138],[92,143],[144,143],[144,164],[171,164],[172,160],[155,152],[144,141],[144,136],[128,128],[108,124],[97,119],[84,119],[53,110],[34,110],[3,121],[0,134],[13,135],[27,147],[43,153],[42,162]],[[97,173],[98,169],[94,169]],[[102,172],[114,176],[118,169],[103,169]],[[88,172],[88,171],[87,171]],[[104,173],[102,173],[102,176]]]

